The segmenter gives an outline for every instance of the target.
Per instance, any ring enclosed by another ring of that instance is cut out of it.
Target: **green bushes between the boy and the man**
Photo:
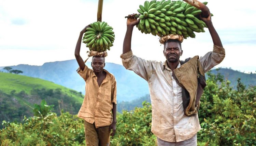
[[[135,108],[133,112],[123,111],[117,118],[117,132],[112,145],[152,146],[156,137],[151,133],[151,105],[142,103],[143,108]]]

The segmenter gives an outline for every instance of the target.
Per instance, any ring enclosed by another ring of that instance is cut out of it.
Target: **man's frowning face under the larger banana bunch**
[[[177,62],[180,60],[180,56],[183,51],[181,50],[181,45],[178,42],[166,42],[165,48],[163,50],[163,55],[168,62]]]

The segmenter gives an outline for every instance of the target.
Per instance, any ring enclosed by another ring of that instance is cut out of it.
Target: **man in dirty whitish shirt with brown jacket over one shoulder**
[[[160,39],[164,44],[164,63],[146,61],[132,54],[131,36],[133,27],[139,23],[129,15],[127,31],[120,56],[126,69],[133,70],[149,85],[152,102],[151,131],[157,136],[158,146],[196,146],[200,130],[197,110],[202,88],[205,86],[204,72],[222,62],[225,50],[215,31],[211,15],[201,18],[208,26],[213,40],[213,51],[199,59],[195,56],[180,61],[182,36],[168,35]]]

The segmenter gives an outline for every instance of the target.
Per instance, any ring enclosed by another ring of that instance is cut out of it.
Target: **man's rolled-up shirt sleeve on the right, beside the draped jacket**
[[[199,61],[202,64],[204,72],[209,71],[214,66],[218,65],[225,58],[225,49],[220,46],[213,46],[213,51],[206,53]]]

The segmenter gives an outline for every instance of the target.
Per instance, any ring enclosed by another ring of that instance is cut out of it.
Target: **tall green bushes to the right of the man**
[[[208,146],[256,145],[256,86],[246,89],[238,79],[233,90],[219,74],[209,72],[208,76],[199,110],[198,141]]]

